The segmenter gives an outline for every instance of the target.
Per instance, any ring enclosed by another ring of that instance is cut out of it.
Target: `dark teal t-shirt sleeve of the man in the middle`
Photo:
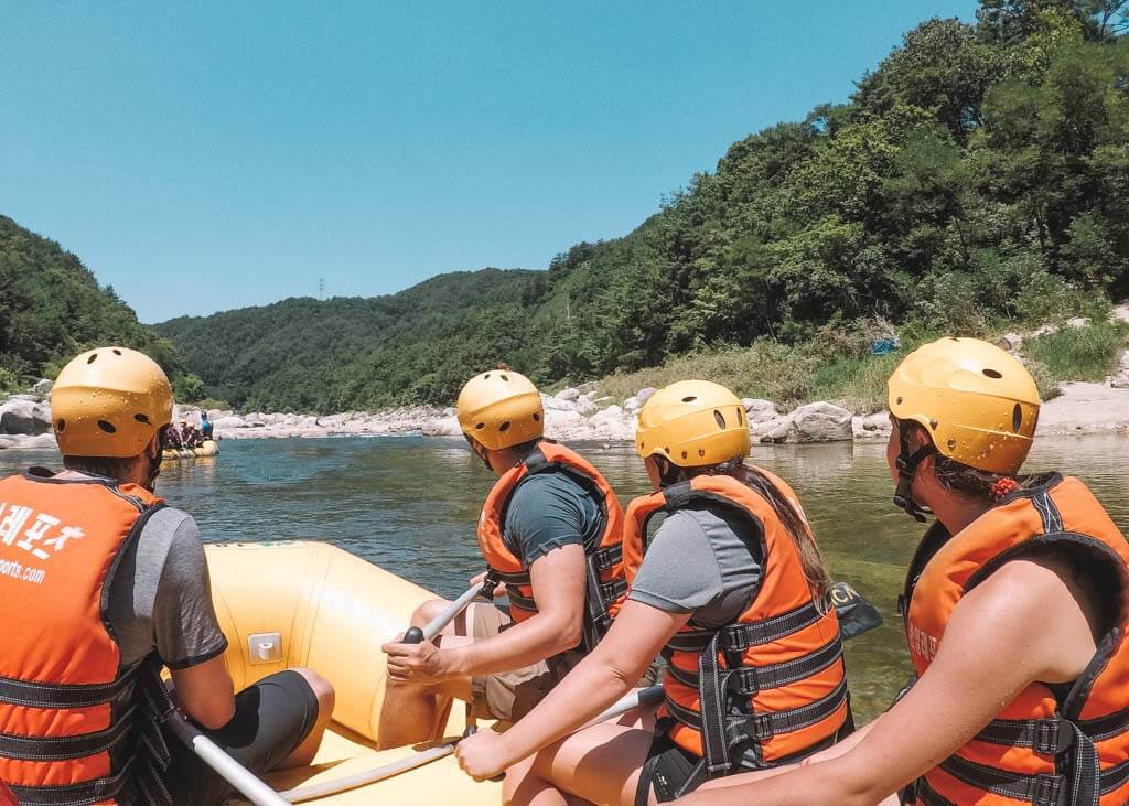
[[[599,542],[599,505],[568,473],[543,471],[522,481],[506,509],[502,541],[528,568],[553,549]]]

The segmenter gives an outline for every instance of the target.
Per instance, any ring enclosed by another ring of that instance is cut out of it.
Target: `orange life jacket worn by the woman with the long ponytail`
[[[791,488],[759,472],[800,511]],[[636,499],[623,535],[629,582],[642,563],[650,517],[695,501],[755,525],[763,573],[732,624],[706,628],[691,619],[667,643],[659,716],[674,720],[672,741],[704,757],[710,776],[770,766],[830,744],[850,710],[839,619],[833,607],[820,612],[795,543],[764,497],[733,476],[700,475]],[[703,710],[703,702],[710,707]]]

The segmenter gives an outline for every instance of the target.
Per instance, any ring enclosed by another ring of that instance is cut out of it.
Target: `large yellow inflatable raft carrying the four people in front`
[[[324,543],[211,545],[208,564],[237,691],[290,666],[315,669],[336,691],[333,724],[314,763],[268,776],[271,786],[283,791],[338,781],[417,752],[375,748],[385,686],[380,645],[434,594]],[[446,734],[463,729],[463,709],[453,708]],[[475,783],[448,755],[308,803],[498,806],[501,785]]]

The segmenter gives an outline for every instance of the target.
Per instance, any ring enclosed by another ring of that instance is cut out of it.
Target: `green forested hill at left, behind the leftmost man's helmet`
[[[0,391],[53,378],[76,353],[108,343],[155,358],[180,395],[200,394],[199,378],[184,373],[173,347],[139,324],[113,288],[98,286],[55,242],[0,216]]]

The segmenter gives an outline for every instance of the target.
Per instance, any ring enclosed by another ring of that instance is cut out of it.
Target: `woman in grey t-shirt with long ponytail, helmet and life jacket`
[[[510,770],[507,804],[666,803],[852,729],[828,569],[796,493],[746,461],[737,396],[706,380],[659,389],[636,448],[655,492],[628,507],[631,589],[611,630],[525,719],[458,744],[474,778]],[[663,704],[569,735],[658,652]]]

